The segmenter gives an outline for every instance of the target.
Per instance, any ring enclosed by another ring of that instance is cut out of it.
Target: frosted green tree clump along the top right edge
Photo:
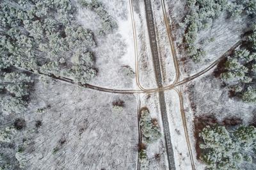
[[[207,29],[211,26],[212,20],[220,17],[221,13],[226,10],[236,20],[239,20],[244,12],[249,15],[255,15],[255,2],[256,0],[188,0],[187,6],[189,7],[189,13],[181,25],[187,26],[184,38],[188,47],[189,56],[196,62],[200,61],[200,58],[204,56],[204,50],[199,50],[200,47],[196,44],[197,35],[200,30]],[[203,55],[202,52],[204,52]]]

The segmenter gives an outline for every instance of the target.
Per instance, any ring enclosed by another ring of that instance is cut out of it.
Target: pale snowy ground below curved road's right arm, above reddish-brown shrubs
[[[220,122],[225,118],[241,118],[246,125],[252,123],[255,104],[229,98],[228,89],[221,87],[220,79],[207,75],[192,84],[191,100],[196,105],[195,116],[211,115]]]

